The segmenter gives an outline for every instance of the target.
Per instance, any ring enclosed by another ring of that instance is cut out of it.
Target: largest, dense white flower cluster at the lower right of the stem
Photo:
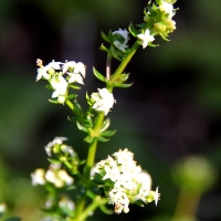
[[[99,161],[92,169],[92,179],[103,183],[108,203],[115,206],[115,212],[129,211],[129,203],[148,203],[159,199],[158,188],[151,191],[151,177],[141,170],[128,149],[115,152],[113,157]]]

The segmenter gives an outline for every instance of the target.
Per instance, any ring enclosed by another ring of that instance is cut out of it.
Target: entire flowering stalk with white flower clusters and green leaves
[[[131,85],[125,83],[129,76],[124,73],[125,67],[140,45],[143,49],[156,46],[152,44],[155,35],[161,35],[167,40],[168,33],[176,29],[176,23],[172,21],[175,15],[172,3],[175,0],[156,0],[156,3],[148,3],[145,23],[129,25],[130,34],[136,38],[131,48],[128,45],[129,32],[126,29],[109,31],[108,35],[102,32],[102,38],[109,43],[108,49],[103,44],[99,48],[107,52],[106,76],[95,67],[93,72],[106,87],[97,88],[91,96],[86,94],[87,110],[82,109],[76,99],[77,94],[72,93],[73,90],[81,88],[78,85],[84,85],[86,66],[82,62],[74,61],[65,63],[52,61],[44,66],[43,62],[38,60],[36,81],[41,78],[48,81],[48,88],[53,91],[50,102],[67,105],[74,114],[74,117],[69,119],[75,122],[77,128],[86,134],[84,141],[88,143],[85,161],[80,160],[73,148],[64,144],[66,140],[64,137],[56,137],[46,145],[45,151],[51,162],[49,170],[38,169],[31,175],[33,185],[45,186],[45,189],[53,194],[45,204],[45,211],[51,214],[45,220],[65,218],[69,221],[84,221],[96,208],[109,213],[104,207],[106,203],[114,206],[115,213],[127,213],[129,203],[143,207],[155,201],[157,206],[160,196],[158,188],[151,190],[151,177],[137,166],[133,152],[120,149],[97,164],[95,156],[98,143],[108,141],[115,134],[115,130],[108,129],[110,120],[106,118],[116,103],[113,95],[114,87],[125,88]],[[112,59],[120,61],[113,74]],[[80,169],[82,165],[84,165],[83,172]],[[76,191],[76,206],[67,197],[60,199],[59,190],[62,192],[63,188]],[[54,198],[57,199],[56,202]],[[87,204],[87,198],[92,200],[91,204]]]

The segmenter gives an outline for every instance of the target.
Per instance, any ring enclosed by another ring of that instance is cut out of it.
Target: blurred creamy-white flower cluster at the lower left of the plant
[[[52,183],[56,188],[62,188],[74,183],[74,179],[66,170],[61,169],[60,164],[51,164],[48,171],[38,168],[31,173],[31,178],[33,186]]]

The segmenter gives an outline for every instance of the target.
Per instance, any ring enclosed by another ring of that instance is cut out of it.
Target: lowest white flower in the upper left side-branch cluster
[[[65,94],[67,91],[67,82],[62,75],[53,76],[50,81],[52,87],[55,90],[52,94],[52,98],[57,97],[60,104],[64,104]]]

